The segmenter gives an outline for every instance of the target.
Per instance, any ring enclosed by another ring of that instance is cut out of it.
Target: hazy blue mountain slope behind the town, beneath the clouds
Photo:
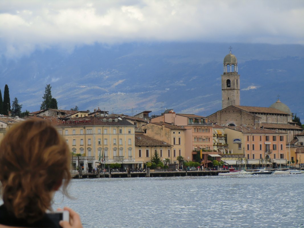
[[[165,108],[208,116],[221,109],[221,74],[229,46],[238,60],[241,105],[280,100],[304,120],[304,46],[215,43],[94,44],[1,57],[0,88],[8,84],[22,110],[37,111],[51,84],[58,108],[100,108],[158,115]]]

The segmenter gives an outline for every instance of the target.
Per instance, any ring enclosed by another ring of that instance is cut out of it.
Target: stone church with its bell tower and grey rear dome
[[[286,143],[303,132],[292,122],[292,112],[279,99],[270,107],[240,105],[240,75],[237,57],[231,53],[224,58],[222,74],[222,109],[208,116],[208,121],[220,126],[253,127],[287,133]]]

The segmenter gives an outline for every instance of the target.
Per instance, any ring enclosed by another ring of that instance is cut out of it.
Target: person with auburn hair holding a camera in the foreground
[[[47,121],[28,120],[13,126],[0,143],[0,181],[3,205],[0,224],[16,227],[57,228],[47,210],[62,185],[67,195],[71,153],[65,140]],[[81,228],[72,209],[64,228]]]

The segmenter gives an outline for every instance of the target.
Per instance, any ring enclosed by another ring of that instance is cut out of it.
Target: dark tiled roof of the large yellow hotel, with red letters
[[[119,119],[120,118],[120,119]],[[71,118],[67,121],[63,121],[63,123],[57,125],[58,127],[64,126],[134,126],[132,123],[127,121],[126,119],[119,117],[81,117],[81,118]],[[103,119],[107,119],[107,122],[103,122]],[[109,122],[109,119],[112,119],[112,122]],[[117,122],[114,119],[118,119]]]

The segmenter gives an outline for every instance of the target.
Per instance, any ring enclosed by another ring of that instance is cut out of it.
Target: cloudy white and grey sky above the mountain
[[[0,1],[0,56],[124,42],[304,45],[303,0]]]

